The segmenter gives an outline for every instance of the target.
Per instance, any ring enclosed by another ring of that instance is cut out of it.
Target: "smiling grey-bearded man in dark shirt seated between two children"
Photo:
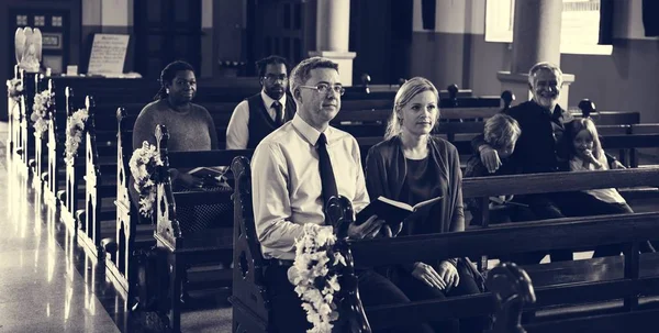
[[[533,99],[505,111],[514,118],[522,129],[511,163],[524,174],[554,173],[567,170],[568,143],[563,140],[565,123],[572,115],[558,104],[562,88],[562,71],[550,63],[538,63],[528,71],[528,87]],[[496,153],[488,145],[482,135],[472,142],[472,148],[480,153],[481,162],[490,173],[501,166]],[[607,155],[611,168],[623,167],[615,158]],[[529,195],[516,201],[529,206],[535,218],[558,219],[571,215],[579,209],[579,192]],[[544,255],[543,255],[544,256]],[[552,253],[552,260],[570,259],[571,252]],[[541,256],[537,260],[541,259]]]

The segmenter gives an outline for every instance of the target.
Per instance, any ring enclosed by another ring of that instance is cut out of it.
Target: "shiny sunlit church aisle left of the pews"
[[[0,122],[0,333],[119,332],[93,269],[76,270],[71,237],[8,159],[7,130]]]

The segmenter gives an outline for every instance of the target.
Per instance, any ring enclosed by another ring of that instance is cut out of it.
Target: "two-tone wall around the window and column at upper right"
[[[589,98],[599,110],[639,111],[643,122],[659,122],[659,40],[644,37],[641,2],[615,1],[612,55],[561,55],[563,71],[576,76],[570,107]],[[424,31],[414,0],[410,76],[500,95],[496,71],[510,70],[511,49],[484,41],[484,8],[485,0],[437,0],[435,30]]]

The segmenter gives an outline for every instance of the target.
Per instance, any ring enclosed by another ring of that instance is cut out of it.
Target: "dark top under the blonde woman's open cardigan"
[[[405,158],[407,175],[401,189],[401,201],[411,206],[418,202],[445,196],[448,192],[446,178],[439,177],[439,170],[431,158],[410,159]],[[448,231],[449,222],[442,225],[442,204],[435,204],[428,213],[405,222],[401,231],[404,235],[417,235],[428,233],[442,233]]]

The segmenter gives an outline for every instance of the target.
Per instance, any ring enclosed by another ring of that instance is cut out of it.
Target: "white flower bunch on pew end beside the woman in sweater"
[[[129,166],[135,179],[135,189],[139,193],[139,213],[146,218],[150,218],[154,202],[156,202],[154,175],[156,167],[163,166],[160,154],[158,154],[156,146],[145,141],[142,144],[142,148],[133,152]]]

